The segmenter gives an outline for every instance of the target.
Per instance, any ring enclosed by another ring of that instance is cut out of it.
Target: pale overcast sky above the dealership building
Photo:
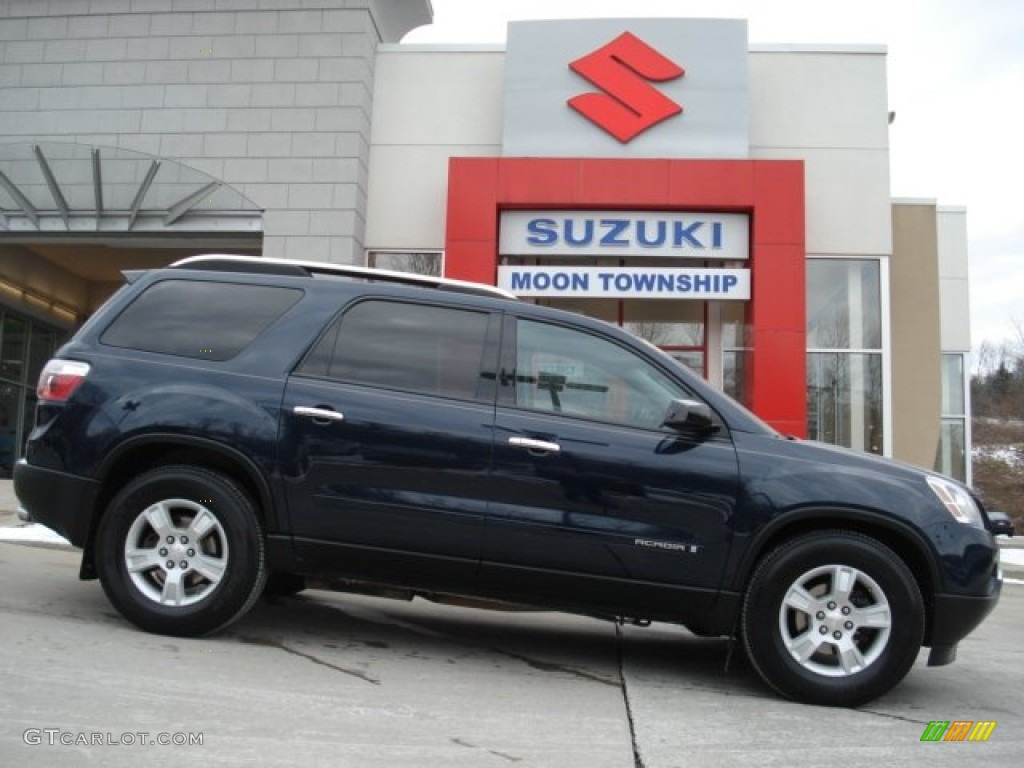
[[[1024,329],[1024,2],[1020,0],[431,0],[407,43],[504,43],[527,18],[745,18],[751,43],[888,48],[891,191],[963,206],[971,337]]]

